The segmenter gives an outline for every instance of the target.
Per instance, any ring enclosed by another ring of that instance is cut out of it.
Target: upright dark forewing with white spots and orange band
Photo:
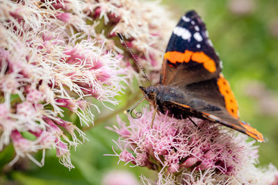
[[[220,60],[195,11],[187,12],[174,28],[163,58],[161,85],[185,86],[215,78]]]

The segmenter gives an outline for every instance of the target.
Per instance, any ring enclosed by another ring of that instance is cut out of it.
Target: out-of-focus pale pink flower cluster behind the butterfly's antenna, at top
[[[139,82],[145,82],[138,64],[130,60],[131,54],[120,44],[117,31],[126,39],[126,44],[149,74],[153,84],[158,82],[167,39],[174,27],[174,21],[169,19],[170,15],[165,8],[156,1],[99,0],[86,1],[85,11],[90,18],[98,21],[95,26],[111,27],[104,34],[96,32],[94,35],[97,40],[105,36],[107,40],[104,46],[122,55],[121,65],[128,69],[128,79],[136,76]]]

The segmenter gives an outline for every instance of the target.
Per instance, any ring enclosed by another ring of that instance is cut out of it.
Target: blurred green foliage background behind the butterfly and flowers
[[[278,166],[278,1],[277,0],[172,0],[162,1],[172,11],[173,18],[188,10],[196,10],[206,23],[208,33],[223,61],[224,76],[238,99],[240,117],[263,133],[265,143],[259,145],[260,166],[272,163]],[[136,85],[135,85],[136,86]],[[126,103],[127,94],[120,109]],[[136,96],[136,95],[134,95]],[[154,173],[145,168],[130,168],[117,157],[111,146],[117,135],[105,127],[116,124],[115,115],[106,119],[105,112],[96,118],[96,125],[86,131],[85,144],[72,150],[72,163],[76,168],[69,171],[58,163],[56,152],[47,152],[42,168],[22,160],[13,169],[1,170],[4,184],[101,184],[101,179],[111,170],[129,170],[139,177]],[[250,139],[252,140],[252,139]],[[0,166],[10,161],[12,148],[0,153]],[[26,170],[28,169],[28,170]]]

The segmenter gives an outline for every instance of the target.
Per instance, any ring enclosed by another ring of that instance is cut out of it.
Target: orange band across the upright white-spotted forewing
[[[216,71],[215,62],[208,57],[204,52],[193,52],[186,50],[184,53],[178,51],[168,51],[164,55],[164,59],[169,60],[171,63],[183,63],[193,60],[204,65],[204,68],[211,73]]]

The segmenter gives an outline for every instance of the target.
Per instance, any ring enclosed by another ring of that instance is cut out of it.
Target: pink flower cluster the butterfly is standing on
[[[163,179],[181,184],[213,181],[245,184],[258,180],[250,178],[258,173],[254,167],[257,150],[253,142],[245,141],[243,134],[236,136],[215,123],[192,118],[196,127],[187,119],[177,120],[167,115],[156,115],[150,127],[153,114],[143,109],[141,118],[129,117],[129,125],[119,118],[119,127],[110,128],[120,135],[117,146],[122,151],[115,152],[120,161],[156,170],[162,184]],[[244,176],[242,173],[247,169],[250,171],[244,175],[249,176]],[[271,173],[272,179],[275,173],[276,169]]]

